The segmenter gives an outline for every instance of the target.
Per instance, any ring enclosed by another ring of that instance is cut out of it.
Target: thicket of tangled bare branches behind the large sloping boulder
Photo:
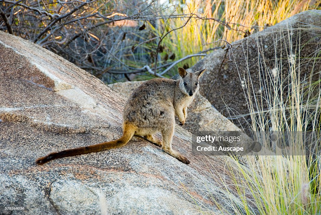
[[[8,29],[17,36],[29,39],[99,78],[129,80],[130,73],[164,77],[178,63],[191,57],[205,56],[205,52],[220,48],[191,53],[175,62],[163,56],[163,61],[160,61],[161,50],[166,54],[175,52],[163,44],[164,39],[184,28],[192,19],[216,21],[226,28],[233,24],[201,17],[198,13],[167,10],[156,0],[109,4],[114,1],[0,0],[3,3],[0,29]],[[170,27],[173,19],[181,19],[183,23]],[[139,29],[146,22],[149,23],[146,28]]]

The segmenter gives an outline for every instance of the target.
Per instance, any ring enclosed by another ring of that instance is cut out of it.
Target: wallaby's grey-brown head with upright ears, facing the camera
[[[188,73],[182,67],[178,67],[178,74],[181,77],[179,89],[182,90],[182,92],[187,96],[193,96],[200,89],[198,80],[205,70],[206,69],[197,71],[195,73]]]

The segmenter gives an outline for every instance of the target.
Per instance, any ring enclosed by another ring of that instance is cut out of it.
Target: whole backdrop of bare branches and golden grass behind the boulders
[[[170,65],[188,68],[214,47],[319,3],[0,0],[0,4],[0,29],[33,41],[109,83],[125,77],[170,77],[177,72],[174,67],[166,69]]]

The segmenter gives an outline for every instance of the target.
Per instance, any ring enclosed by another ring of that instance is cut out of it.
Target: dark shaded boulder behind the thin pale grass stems
[[[291,94],[288,76],[292,65],[300,81],[320,79],[321,62],[315,59],[320,41],[321,11],[305,11],[234,41],[229,48],[213,51],[190,70],[207,68],[200,80],[207,87],[200,93],[224,116],[234,119],[234,124],[247,129],[249,98],[251,112],[273,108],[267,102],[274,93],[269,87],[277,78],[283,82],[284,98]]]

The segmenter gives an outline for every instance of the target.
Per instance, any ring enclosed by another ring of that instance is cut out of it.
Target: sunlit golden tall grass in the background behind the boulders
[[[171,32],[163,39],[162,45],[167,52],[173,52],[177,59],[225,45],[225,41],[231,43],[239,39],[240,34],[243,37],[263,30],[266,26],[274,25],[295,13],[315,8],[315,5],[320,3],[318,1],[316,4],[316,1],[311,0],[183,0],[175,5],[172,1],[170,2],[165,3],[171,8],[168,13],[194,13],[198,17],[216,19],[227,24],[222,25],[214,20],[192,18],[185,27]],[[186,20],[186,17],[160,20],[157,29],[154,29],[155,34],[162,35],[164,32],[183,26]],[[161,55],[165,55],[165,52]],[[190,67],[200,58],[202,56],[190,58],[183,64]],[[176,71],[172,70],[172,72],[174,74]]]

